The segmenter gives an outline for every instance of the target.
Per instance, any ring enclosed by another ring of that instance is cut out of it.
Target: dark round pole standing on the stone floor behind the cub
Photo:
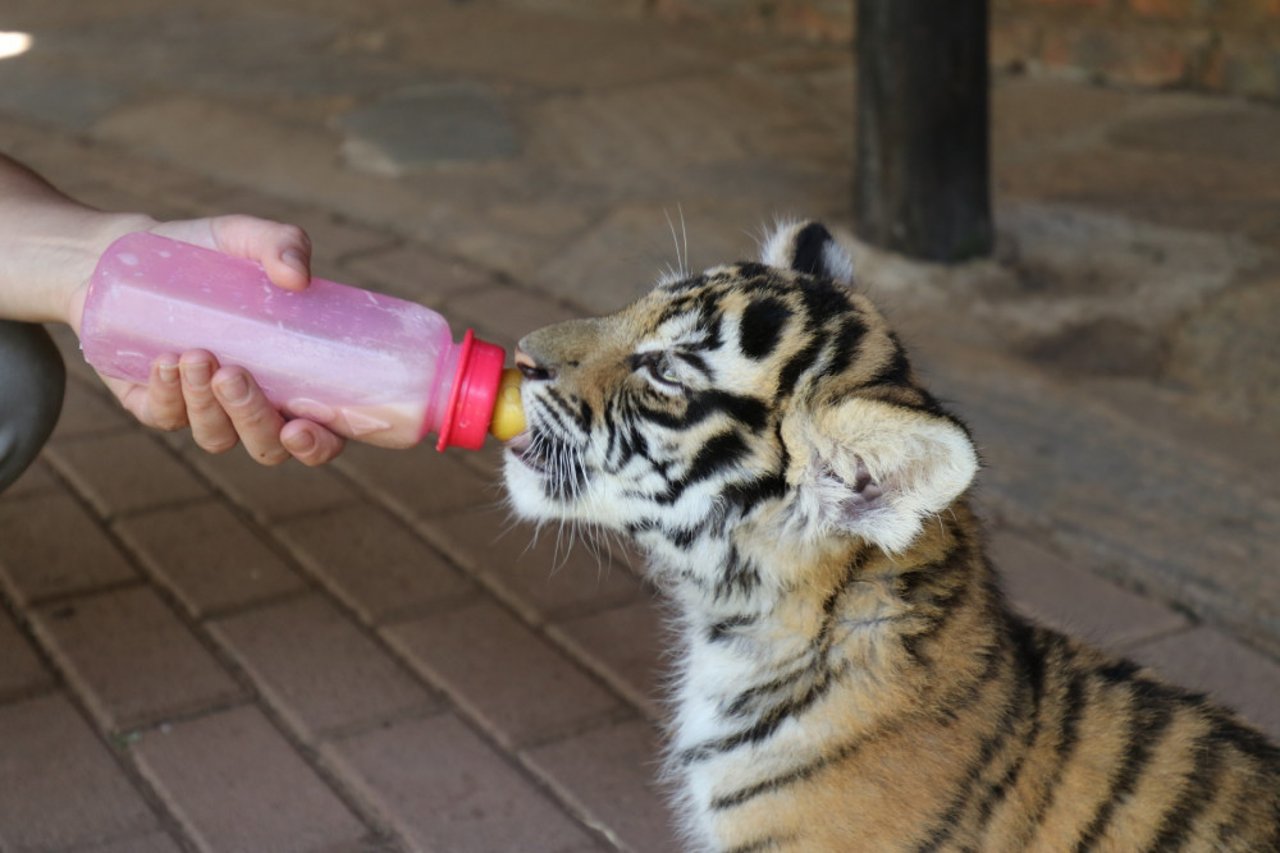
[[[854,206],[911,257],[991,254],[987,0],[858,0]]]

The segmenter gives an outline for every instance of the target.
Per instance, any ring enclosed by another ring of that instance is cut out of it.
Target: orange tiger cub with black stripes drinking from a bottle
[[[978,455],[817,223],[521,343],[518,515],[625,532],[678,610],[698,850],[1277,850],[1280,749],[1010,611]]]

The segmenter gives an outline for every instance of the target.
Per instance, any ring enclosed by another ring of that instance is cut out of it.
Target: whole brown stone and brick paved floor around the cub
[[[849,228],[845,51],[636,4],[9,0],[0,149],[93,204],[305,225],[509,346],[776,215]],[[1280,111],[1006,78],[1000,252],[859,254],[970,421],[1024,610],[1280,735]],[[0,850],[666,850],[663,612],[497,455],[260,469],[72,368],[0,497]]]

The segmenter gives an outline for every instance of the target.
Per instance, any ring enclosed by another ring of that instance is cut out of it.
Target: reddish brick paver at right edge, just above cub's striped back
[[[1280,739],[1280,663],[1226,634],[1198,626],[1139,643],[1126,656],[1194,690],[1207,690]]]

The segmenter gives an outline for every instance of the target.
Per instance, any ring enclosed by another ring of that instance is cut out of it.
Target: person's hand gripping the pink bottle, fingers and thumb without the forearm
[[[296,225],[238,215],[165,223],[129,218],[120,222],[120,228],[104,233],[101,250],[132,231],[150,231],[255,260],[274,284],[288,291],[305,289],[311,280],[311,243]],[[86,278],[69,300],[68,321],[77,334],[87,293]],[[305,465],[323,465],[342,452],[344,444],[320,424],[306,419],[287,421],[247,370],[220,366],[205,350],[161,355],[151,365],[146,384],[101,379],[142,424],[164,430],[191,426],[196,444],[210,453],[223,453],[243,443],[262,465],[279,465],[291,456]]]

